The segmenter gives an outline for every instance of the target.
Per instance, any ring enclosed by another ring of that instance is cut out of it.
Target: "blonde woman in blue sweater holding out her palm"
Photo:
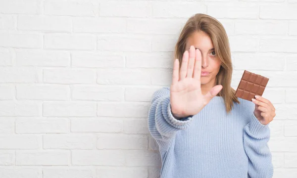
[[[267,142],[275,108],[263,97],[235,96],[222,24],[206,14],[192,16],[175,59],[172,84],[154,92],[148,114],[161,178],[271,178]]]

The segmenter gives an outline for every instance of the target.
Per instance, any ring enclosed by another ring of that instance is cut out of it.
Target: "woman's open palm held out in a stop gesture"
[[[221,85],[214,86],[203,95],[200,78],[201,53],[192,45],[190,52],[186,50],[183,54],[180,70],[179,61],[174,62],[170,87],[170,104],[174,117],[180,119],[196,115],[223,88]]]

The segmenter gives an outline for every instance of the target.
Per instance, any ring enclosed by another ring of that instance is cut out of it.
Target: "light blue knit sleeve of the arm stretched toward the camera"
[[[156,141],[168,143],[177,131],[190,126],[193,115],[176,119],[172,115],[170,89],[162,88],[153,93],[148,111],[148,129]]]

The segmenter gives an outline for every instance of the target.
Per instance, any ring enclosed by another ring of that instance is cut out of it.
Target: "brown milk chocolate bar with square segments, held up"
[[[255,95],[262,96],[268,83],[268,78],[245,70],[236,89],[235,96],[251,101]]]

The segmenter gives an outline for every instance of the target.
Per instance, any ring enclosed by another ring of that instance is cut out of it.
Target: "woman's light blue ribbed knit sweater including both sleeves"
[[[159,145],[161,178],[272,178],[268,125],[254,116],[254,103],[239,98],[227,114],[215,96],[196,115],[172,116],[170,88],[154,92],[148,129]]]

